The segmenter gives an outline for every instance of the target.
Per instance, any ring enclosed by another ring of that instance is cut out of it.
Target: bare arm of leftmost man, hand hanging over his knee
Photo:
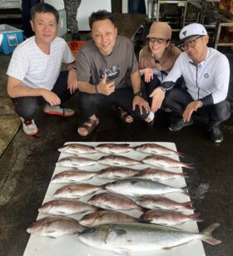
[[[41,96],[51,106],[59,105],[61,103],[61,100],[57,94],[52,93],[46,88],[28,88],[22,85],[22,81],[10,76],[7,80],[7,93],[11,98]]]

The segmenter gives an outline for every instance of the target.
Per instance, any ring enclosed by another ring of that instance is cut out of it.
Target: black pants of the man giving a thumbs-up
[[[132,110],[133,101],[133,91],[132,88],[121,88],[115,90],[114,93],[110,95],[104,94],[91,94],[91,93],[79,93],[79,108],[84,118],[90,118],[92,115],[97,113],[98,107],[108,107],[115,105],[126,110],[132,117],[139,117],[141,119],[146,119],[148,113],[143,109],[143,113],[140,113],[138,107],[135,111]]]

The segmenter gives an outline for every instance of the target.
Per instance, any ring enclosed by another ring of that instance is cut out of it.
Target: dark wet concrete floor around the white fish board
[[[227,53],[227,57],[233,70],[231,51]],[[0,91],[5,91],[6,88],[5,71],[8,61],[9,56],[0,55]],[[231,103],[232,88],[231,76]],[[2,98],[8,100],[6,93],[4,95]],[[97,129],[87,138],[81,138],[77,134],[77,127],[82,123],[77,100],[75,95],[67,103],[67,106],[77,111],[73,118],[47,116],[42,111],[38,113],[36,123],[40,133],[37,137],[28,137],[22,132],[22,128],[13,129],[16,135],[0,158],[0,256],[23,254],[29,238],[26,229],[37,218],[37,208],[42,204],[57,162],[57,148],[72,141],[176,143],[178,151],[186,153],[184,162],[195,163],[196,166],[193,170],[187,170],[186,183],[196,212],[201,213],[201,218],[204,219],[203,223],[198,223],[200,231],[211,223],[221,223],[214,236],[221,239],[222,243],[216,246],[204,244],[206,256],[232,256],[233,118],[223,123],[225,139],[221,145],[216,146],[206,136],[206,120],[202,117],[196,117],[193,126],[170,133],[167,129],[167,113],[158,113],[156,123],[148,128],[139,120],[123,124],[110,109],[101,109]],[[12,113],[12,103],[7,101],[7,105]],[[2,109],[1,107],[1,111]],[[5,122],[3,112],[0,123]]]

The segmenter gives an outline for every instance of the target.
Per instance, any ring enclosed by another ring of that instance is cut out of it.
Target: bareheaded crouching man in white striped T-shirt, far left
[[[24,133],[38,132],[34,122],[37,109],[43,103],[44,113],[71,117],[74,111],[62,103],[77,90],[76,62],[67,43],[57,38],[59,14],[47,3],[38,3],[31,10],[31,25],[35,36],[19,44],[7,69],[7,93],[22,119]],[[61,72],[61,64],[67,71]]]

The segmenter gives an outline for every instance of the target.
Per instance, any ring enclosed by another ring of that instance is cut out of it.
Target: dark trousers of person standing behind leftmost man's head
[[[30,38],[34,35],[31,27],[31,8],[40,3],[40,0],[22,0],[22,28],[26,38]]]

